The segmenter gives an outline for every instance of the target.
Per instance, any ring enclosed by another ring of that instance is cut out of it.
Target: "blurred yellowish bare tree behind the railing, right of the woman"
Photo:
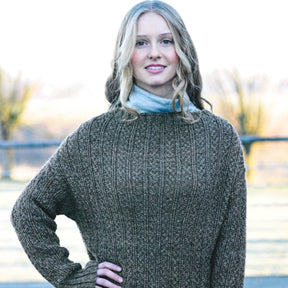
[[[232,72],[215,72],[207,79],[210,93],[219,103],[219,114],[229,120],[240,135],[261,135],[267,123],[263,94],[267,78],[262,75],[245,81],[235,68]],[[252,143],[244,143],[246,162],[251,166]]]

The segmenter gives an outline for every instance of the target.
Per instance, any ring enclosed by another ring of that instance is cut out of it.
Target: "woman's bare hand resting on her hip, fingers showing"
[[[98,265],[96,286],[95,288],[107,287],[107,288],[121,288],[118,285],[113,284],[110,280],[117,283],[122,283],[123,278],[115,272],[121,272],[122,268],[110,262],[102,262]]]

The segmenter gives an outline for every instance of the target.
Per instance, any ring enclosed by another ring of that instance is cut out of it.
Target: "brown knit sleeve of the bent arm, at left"
[[[11,221],[26,254],[36,269],[57,288],[95,287],[98,263],[94,260],[82,269],[69,260],[56,235],[55,218],[64,214],[73,219],[75,201],[61,169],[68,157],[67,141],[49,159],[16,201]],[[67,163],[66,163],[67,164]]]

